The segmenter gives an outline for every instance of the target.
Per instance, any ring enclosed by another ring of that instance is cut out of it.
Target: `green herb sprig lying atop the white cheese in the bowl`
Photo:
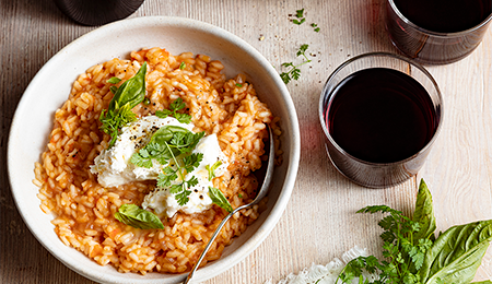
[[[131,156],[130,163],[151,168],[155,159],[166,165],[173,157],[191,152],[203,135],[204,132],[194,133],[183,127],[164,126],[155,131],[143,149]]]

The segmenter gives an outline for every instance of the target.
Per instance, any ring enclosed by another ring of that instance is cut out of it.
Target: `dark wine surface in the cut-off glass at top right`
[[[425,29],[456,33],[469,29],[492,13],[492,0],[394,0],[408,20]]]

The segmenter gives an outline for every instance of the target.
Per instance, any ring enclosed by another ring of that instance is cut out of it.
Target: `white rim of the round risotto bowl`
[[[237,264],[239,261],[245,259],[247,256],[249,256],[271,233],[273,227],[279,222],[280,217],[282,216],[286,204],[289,203],[290,197],[292,194],[298,164],[300,164],[300,156],[301,156],[301,135],[300,135],[300,128],[298,128],[298,120],[296,110],[294,107],[294,103],[290,96],[290,93],[283,83],[283,81],[280,79],[280,75],[278,75],[278,72],[272,67],[272,64],[253,46],[250,46],[248,43],[246,43],[241,37],[232,34],[231,32],[227,32],[221,27],[214,26],[212,24],[201,22],[198,20],[187,19],[187,17],[178,17],[178,16],[141,16],[141,17],[132,17],[127,20],[120,20],[114,23],[109,23],[107,25],[103,25],[98,28],[95,28],[79,38],[72,40],[67,46],[65,46],[62,49],[60,49],[55,56],[52,56],[35,74],[35,76],[31,80],[30,84],[25,88],[17,106],[15,109],[15,113],[12,117],[11,128],[9,132],[9,140],[8,140],[8,149],[7,149],[7,168],[8,168],[8,176],[9,176],[9,182],[11,192],[14,199],[14,203],[17,208],[17,211],[20,215],[22,216],[24,223],[27,225],[31,233],[34,235],[34,237],[59,261],[61,261],[66,267],[71,269],[72,271],[79,273],[80,275],[83,275],[90,280],[97,281],[97,282],[104,282],[104,283],[140,283],[140,281],[136,281],[134,279],[127,279],[125,280],[125,273],[121,273],[120,276],[114,277],[110,275],[94,275],[91,272],[87,272],[87,270],[82,270],[78,263],[72,259],[66,259],[58,255],[57,251],[55,251],[55,248],[50,247],[49,244],[49,237],[45,237],[42,234],[39,234],[39,229],[36,227],[35,222],[31,221],[26,215],[27,208],[24,208],[24,204],[22,202],[22,196],[20,196],[21,192],[17,192],[15,184],[19,178],[22,178],[22,174],[14,173],[12,169],[14,153],[13,153],[13,143],[14,143],[14,135],[17,132],[20,122],[20,115],[19,113],[22,109],[25,109],[28,104],[30,98],[32,97],[31,94],[34,93],[33,88],[40,80],[42,74],[45,70],[49,70],[49,68],[54,64],[56,64],[59,60],[63,58],[66,54],[69,54],[71,49],[74,49],[77,45],[83,44],[85,40],[91,39],[93,37],[97,37],[104,33],[107,33],[112,29],[119,29],[120,26],[131,25],[136,27],[141,26],[174,26],[174,27],[186,27],[186,28],[192,28],[200,31],[202,33],[211,34],[218,38],[221,38],[223,40],[229,42],[230,44],[241,48],[245,52],[247,52],[249,56],[255,58],[257,62],[271,76],[271,79],[274,82],[276,87],[279,88],[279,93],[281,94],[282,98],[284,99],[285,107],[289,113],[289,119],[285,119],[289,121],[289,134],[291,138],[290,149],[284,150],[284,154],[289,155],[289,165],[286,166],[285,170],[285,179],[283,180],[283,185],[281,187],[281,191],[279,194],[278,200],[273,204],[270,214],[268,217],[265,218],[263,223],[258,227],[257,232],[248,239],[246,240],[241,247],[238,247],[233,253],[230,256],[226,256],[226,260],[224,263],[220,263],[221,265],[214,265],[218,261],[211,262],[210,265],[206,265],[197,271],[196,279],[197,281],[206,281],[208,279],[211,279],[213,276],[216,276],[226,270],[231,269],[235,264]],[[96,63],[96,62],[95,62]],[[40,154],[40,153],[39,153]],[[34,165],[33,165],[34,167]],[[31,170],[34,170],[31,169]],[[36,192],[37,194],[37,192]],[[40,212],[43,213],[43,212]],[[44,214],[44,213],[43,213]],[[61,241],[61,240],[58,240]],[[73,249],[72,247],[68,247],[70,249]],[[221,258],[223,260],[225,258]],[[188,273],[184,274],[176,274],[176,282],[183,281]],[[142,277],[141,283],[163,283],[165,279],[144,279]]]

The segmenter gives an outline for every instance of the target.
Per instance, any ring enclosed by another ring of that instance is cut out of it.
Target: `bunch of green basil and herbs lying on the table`
[[[358,213],[389,213],[378,225],[384,228],[384,261],[374,256],[351,260],[337,279],[342,283],[465,284],[470,283],[490,241],[492,220],[454,226],[435,238],[432,197],[421,180],[413,218],[386,205],[366,206]],[[378,274],[374,282],[362,280],[362,271]],[[475,282],[489,283],[491,281]]]

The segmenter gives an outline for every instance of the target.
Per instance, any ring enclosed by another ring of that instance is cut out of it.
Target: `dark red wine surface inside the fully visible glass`
[[[328,102],[326,123],[347,153],[372,163],[393,163],[421,151],[437,128],[425,88],[411,76],[373,68],[345,78]]]

